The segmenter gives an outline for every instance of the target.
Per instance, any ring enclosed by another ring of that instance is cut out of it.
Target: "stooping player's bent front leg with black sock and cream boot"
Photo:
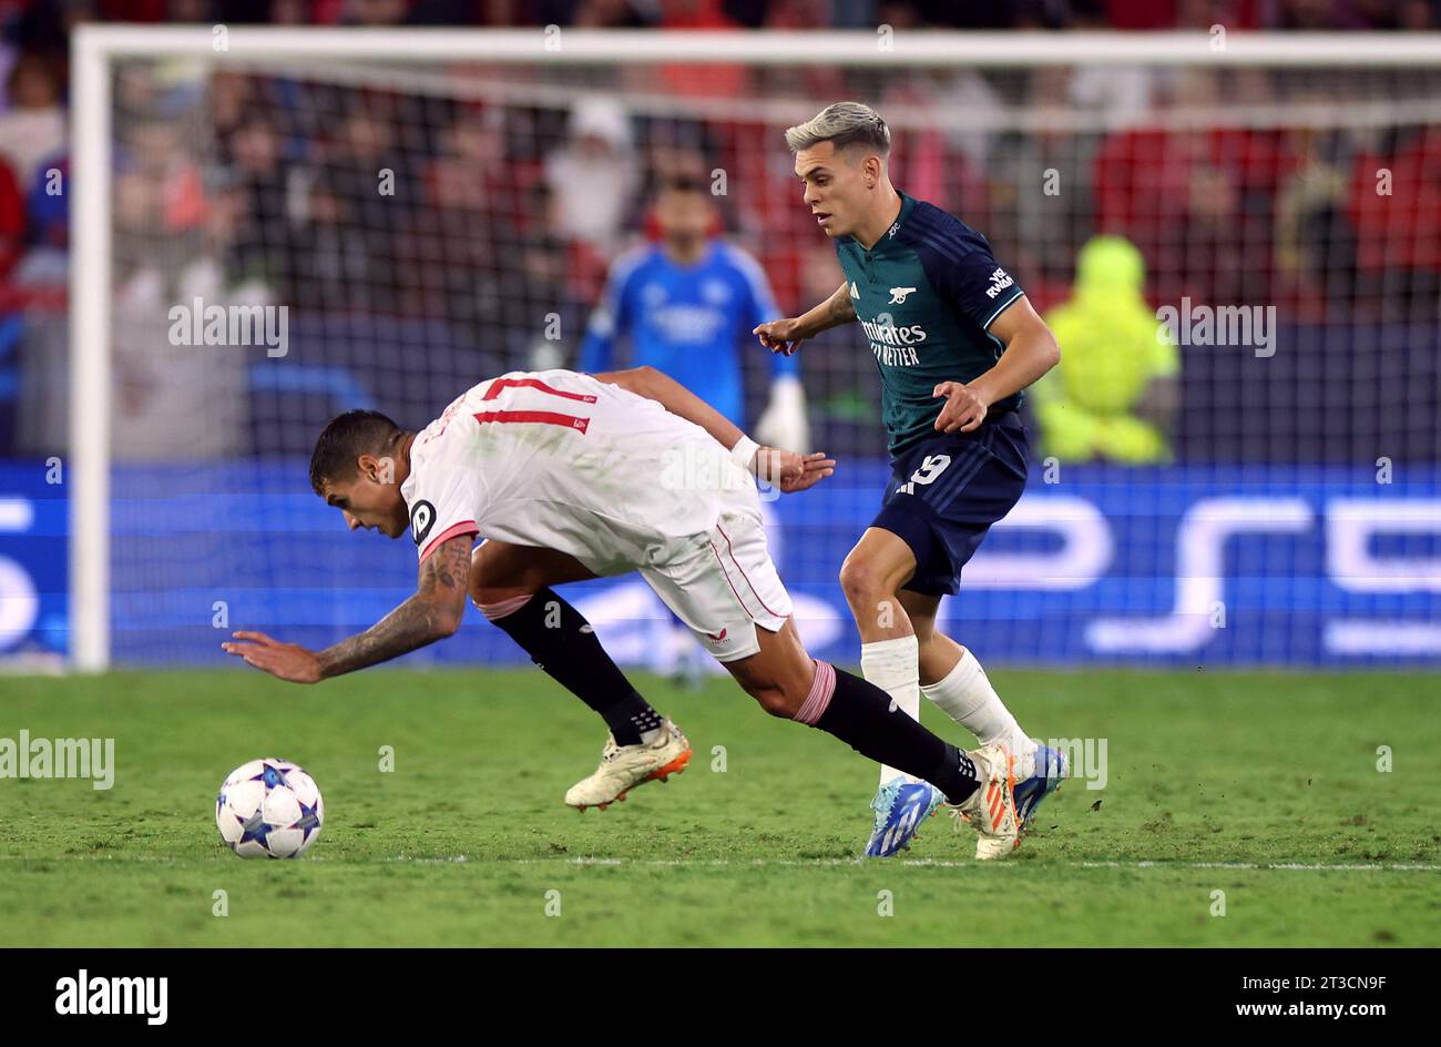
[[[634,786],[666,780],[690,760],[690,743],[680,728],[631,686],[585,616],[550,588],[594,577],[565,552],[487,541],[471,554],[468,578],[470,597],[481,613],[611,730],[599,767],[565,796],[581,810],[604,810]]]

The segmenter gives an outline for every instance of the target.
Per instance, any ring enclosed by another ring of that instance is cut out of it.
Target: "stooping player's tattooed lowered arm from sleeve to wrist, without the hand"
[[[450,636],[465,611],[465,578],[470,570],[470,536],[452,538],[424,564],[416,593],[357,636],[326,648],[323,678],[386,662]]]

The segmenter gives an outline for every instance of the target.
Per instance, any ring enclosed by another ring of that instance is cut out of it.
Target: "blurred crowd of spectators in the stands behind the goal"
[[[63,309],[66,33],[78,20],[1404,29],[1434,27],[1437,4],[0,0],[0,394],[13,395],[14,379],[7,385],[3,375],[16,366],[20,327],[7,320]],[[520,68],[506,75],[536,78]],[[746,112],[744,98],[765,95],[808,100],[797,120],[837,98],[873,102],[892,121],[895,183],[986,232],[1040,309],[1071,293],[1082,244],[1110,234],[1138,249],[1153,304],[1190,296],[1267,301],[1303,320],[1366,320],[1385,309],[1391,319],[1435,322],[1441,124],[1396,121],[1378,131],[1225,120],[1282,101],[1321,110],[1385,101],[1396,88],[1435,98],[1434,78],[742,66],[699,76],[669,66],[607,71],[610,81],[588,75],[575,81],[572,101],[556,104],[543,92],[465,101],[474,95],[388,89],[383,76],[350,87],[321,76],[200,78],[193,69],[122,66],[112,196],[118,313],[220,293],[316,314],[444,322],[493,355],[488,366],[574,363],[576,345],[537,340],[537,317],[555,313],[563,330],[584,329],[610,261],[648,229],[653,187],[682,172],[723,174],[726,231],[761,260],[781,309],[800,312],[840,277],[801,203],[784,125]],[[623,92],[677,104],[669,115],[643,114],[625,108]],[[702,95],[739,101],[729,115],[700,118],[684,100]],[[986,130],[944,118],[973,111],[1042,120],[1022,133],[1004,120]],[[1386,192],[1378,189],[1382,173]],[[847,368],[860,372],[853,361]],[[843,417],[849,395],[857,405],[870,398],[837,379],[827,410]]]

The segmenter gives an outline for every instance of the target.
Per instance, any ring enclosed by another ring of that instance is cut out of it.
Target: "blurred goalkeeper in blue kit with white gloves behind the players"
[[[728,421],[745,427],[741,346],[751,330],[780,319],[765,270],[735,244],[715,235],[718,215],[705,179],[672,174],[651,213],[660,241],[623,254],[611,267],[605,291],[591,314],[581,345],[579,369],[595,374],[617,366],[617,343],[628,343],[627,366],[653,366],[705,397]],[[771,358],[771,398],[755,436],[774,447],[810,446],[800,365]],[[679,623],[677,623],[679,624]],[[679,659],[683,675],[697,681],[700,653],[679,629],[674,656],[653,649],[651,668],[669,672]]]

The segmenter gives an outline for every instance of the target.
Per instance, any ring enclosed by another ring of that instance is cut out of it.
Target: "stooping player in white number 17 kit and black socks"
[[[1003,857],[1019,842],[1012,756],[999,746],[963,753],[892,715],[883,691],[813,661],[800,642],[767,551],[754,474],[794,492],[833,469],[823,454],[758,447],[653,368],[503,375],[463,394],[421,433],[352,411],[317,441],[311,485],[352,529],[411,531],[421,564],[415,596],[321,652],[255,632],[223,646],[281,679],[313,684],[452,635],[470,593],[501,627],[529,616],[512,635],[562,679],[553,661],[595,665],[599,646],[571,635],[537,655],[536,596],[550,584],[640,571],[768,712],[931,782],[980,832],[977,857]],[[473,564],[477,536],[486,542]],[[507,574],[520,581],[507,586]],[[597,773],[568,793],[572,806],[621,799],[690,756],[679,728],[633,689],[602,715],[612,738]],[[618,744],[617,727],[627,725],[635,740]]]

